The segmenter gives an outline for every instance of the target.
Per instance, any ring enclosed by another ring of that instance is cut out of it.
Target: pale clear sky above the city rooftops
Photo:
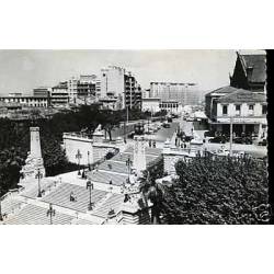
[[[151,81],[195,82],[202,91],[229,84],[236,50],[0,50],[0,95],[32,94],[109,65],[132,71],[142,89]]]

